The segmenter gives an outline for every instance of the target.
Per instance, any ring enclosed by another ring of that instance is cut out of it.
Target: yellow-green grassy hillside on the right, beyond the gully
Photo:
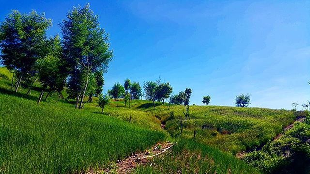
[[[115,103],[121,106],[123,102]],[[184,106],[157,103],[154,110],[150,102],[135,101],[132,106],[152,113],[164,124],[173,137],[193,138],[198,141],[236,154],[263,145],[294,121],[292,111],[266,108],[238,108],[225,106],[190,106],[190,120],[185,123]],[[173,112],[171,116],[171,112]],[[183,121],[183,133],[180,120]],[[204,129],[202,129],[204,126]]]

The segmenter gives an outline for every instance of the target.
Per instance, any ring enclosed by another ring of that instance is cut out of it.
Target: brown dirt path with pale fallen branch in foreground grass
[[[144,152],[136,153],[124,160],[118,160],[117,163],[111,163],[108,168],[100,170],[89,170],[87,174],[129,174],[138,165],[144,165],[150,161],[151,158],[168,152],[173,144],[171,142],[158,143],[152,148]]]

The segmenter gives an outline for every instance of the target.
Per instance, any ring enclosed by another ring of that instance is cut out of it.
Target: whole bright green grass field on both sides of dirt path
[[[154,110],[150,101],[133,100],[130,109],[124,101],[112,101],[104,114],[96,98],[83,110],[74,109],[71,101],[57,102],[56,94],[38,105],[38,91],[25,96],[27,89],[8,90],[11,77],[0,68],[0,173],[5,174],[83,172],[167,139],[178,142],[172,152],[135,173],[259,173],[235,153],[262,145],[295,118],[287,110],[190,106],[185,125],[183,106],[168,110],[161,102]],[[185,125],[181,135],[180,118]]]

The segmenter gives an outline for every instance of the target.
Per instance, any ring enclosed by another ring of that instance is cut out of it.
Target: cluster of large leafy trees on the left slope
[[[28,87],[39,81],[42,92],[61,91],[66,87],[76,108],[83,107],[86,95],[99,96],[104,84],[103,73],[113,54],[109,50],[109,35],[100,27],[98,16],[87,4],[73,8],[59,23],[62,40],[56,35],[47,37],[52,25],[44,13],[32,11],[21,14],[12,11],[0,24],[1,63],[14,73],[12,87]]]

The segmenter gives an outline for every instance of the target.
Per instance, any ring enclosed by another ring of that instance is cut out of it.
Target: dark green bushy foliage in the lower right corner
[[[295,123],[279,139],[248,153],[243,160],[265,173],[299,174],[310,169],[309,116],[303,123]]]

